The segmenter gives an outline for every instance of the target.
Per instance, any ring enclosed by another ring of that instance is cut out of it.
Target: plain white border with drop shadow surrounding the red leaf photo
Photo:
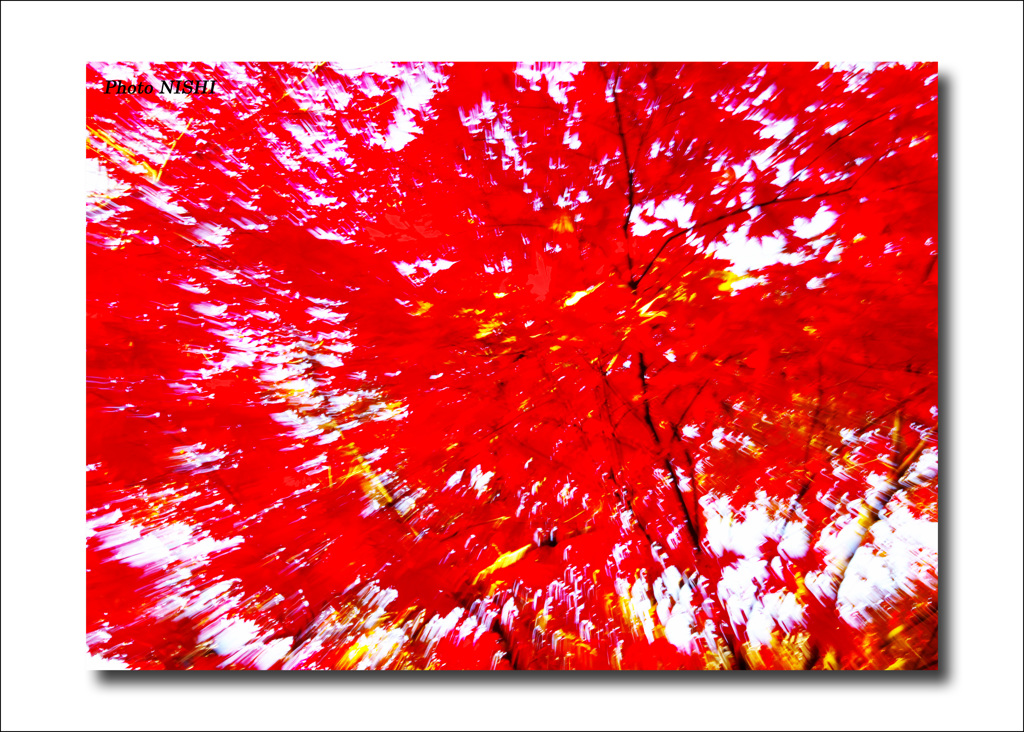
[[[1019,3],[4,3],[3,729],[1021,729]],[[939,674],[100,674],[85,629],[88,60],[938,60]]]

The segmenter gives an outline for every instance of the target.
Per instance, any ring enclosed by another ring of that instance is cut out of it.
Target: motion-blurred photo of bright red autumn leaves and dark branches
[[[87,81],[93,653],[935,666],[934,64]]]

